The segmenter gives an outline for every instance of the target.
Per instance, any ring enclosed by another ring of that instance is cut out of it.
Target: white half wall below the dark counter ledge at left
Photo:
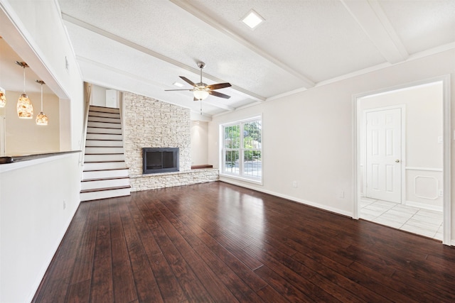
[[[0,302],[33,298],[79,206],[78,160],[73,153],[0,165]]]

